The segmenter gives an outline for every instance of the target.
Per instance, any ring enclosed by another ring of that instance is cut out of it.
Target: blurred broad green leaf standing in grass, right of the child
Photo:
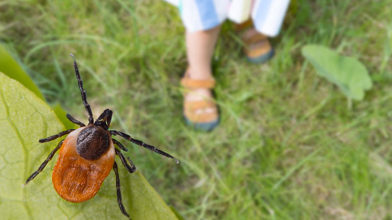
[[[340,56],[320,45],[306,45],[302,48],[302,54],[319,75],[335,83],[348,98],[362,100],[364,90],[372,86],[365,66],[355,58]]]

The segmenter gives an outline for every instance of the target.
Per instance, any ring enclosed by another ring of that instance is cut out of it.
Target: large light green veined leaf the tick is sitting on
[[[29,184],[26,179],[41,165],[61,138],[38,140],[65,130],[53,110],[20,82],[0,72],[0,218],[1,219],[127,219],[117,203],[114,172],[89,201],[60,198],[51,182],[57,154]],[[129,174],[117,158],[123,203],[134,220],[177,219],[139,173]]]

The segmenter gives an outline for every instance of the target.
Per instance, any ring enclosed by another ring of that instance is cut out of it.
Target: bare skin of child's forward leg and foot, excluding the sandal
[[[221,26],[207,31],[193,33],[186,31],[186,53],[190,66],[189,75],[191,79],[203,80],[212,78],[211,60],[220,30]],[[197,88],[187,93],[185,100],[198,101],[209,97],[212,97],[210,89]],[[203,110],[200,109],[198,111]],[[213,109],[207,108],[205,111],[209,112],[213,111]]]

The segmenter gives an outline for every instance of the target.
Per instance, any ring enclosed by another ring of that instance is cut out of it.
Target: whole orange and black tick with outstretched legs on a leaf
[[[57,135],[40,139],[39,142],[44,143],[68,135],[64,140],[60,141],[38,170],[31,174],[26,180],[26,184],[34,179],[52,159],[53,155],[60,150],[57,162],[53,168],[52,182],[54,189],[61,198],[76,203],[91,199],[100,190],[102,182],[113,168],[116,175],[117,201],[121,212],[129,217],[121,198],[120,178],[115,156],[117,155],[120,157],[121,162],[129,173],[134,173],[136,167],[129,157],[125,158],[121,151],[115,148],[115,145],[117,145],[121,150],[128,151],[119,141],[113,139],[112,135],[119,135],[126,140],[154,151],[155,153],[173,158],[177,164],[178,160],[170,154],[167,154],[154,146],[145,144],[142,141],[133,139],[123,132],[109,130],[113,115],[113,111],[110,109],[105,109],[101,116],[94,122],[91,107],[87,102],[86,91],[83,89],[83,82],[80,78],[76,60],[72,54],[69,55],[73,58],[73,66],[82,101],[89,116],[88,125],[85,126],[83,123],[67,114],[66,116],[69,121],[80,126],[80,128],[69,129],[60,132]]]

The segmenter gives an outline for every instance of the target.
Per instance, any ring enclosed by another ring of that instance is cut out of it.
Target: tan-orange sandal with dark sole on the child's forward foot
[[[194,80],[189,78],[189,68],[186,70],[181,79],[181,85],[186,90],[196,88],[209,88],[215,87],[215,79]],[[186,95],[184,92],[184,96]],[[199,109],[213,108],[212,112],[195,113]],[[211,131],[219,124],[219,112],[216,102],[212,98],[206,98],[197,101],[184,101],[183,116],[187,125],[203,131]]]

